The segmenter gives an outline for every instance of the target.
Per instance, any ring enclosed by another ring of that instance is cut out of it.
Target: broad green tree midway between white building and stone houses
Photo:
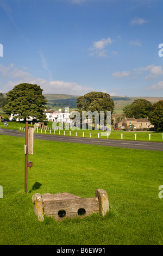
[[[97,111],[100,114],[100,111],[104,111],[104,117],[106,120],[106,112],[110,111],[111,114],[114,111],[114,101],[110,99],[108,93],[102,92],[90,92],[84,96],[77,98],[77,109],[80,112],[82,117],[82,111]]]

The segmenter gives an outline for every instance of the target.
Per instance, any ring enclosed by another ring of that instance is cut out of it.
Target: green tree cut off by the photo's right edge
[[[152,111],[149,114],[151,124],[163,128],[163,100],[159,100],[152,106]]]

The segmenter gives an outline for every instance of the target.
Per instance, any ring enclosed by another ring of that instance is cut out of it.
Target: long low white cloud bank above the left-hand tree
[[[94,88],[80,86],[76,82],[65,81],[48,81],[43,78],[36,78],[27,71],[23,71],[14,67],[14,64],[10,64],[9,67],[0,65],[0,75],[7,79],[8,82],[3,87],[3,92],[8,92],[14,86],[20,83],[32,83],[37,84],[43,89],[43,93],[58,93],[58,94],[73,94],[84,95],[92,92]],[[2,89],[2,88],[1,88]]]

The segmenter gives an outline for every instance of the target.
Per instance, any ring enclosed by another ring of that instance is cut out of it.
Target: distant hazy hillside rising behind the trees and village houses
[[[47,106],[49,108],[59,108],[59,107],[70,107],[76,108],[77,103],[76,99],[77,95],[68,95],[68,94],[44,94],[48,103]],[[126,105],[131,104],[136,99],[146,99],[155,103],[159,100],[163,100],[163,97],[120,97],[120,96],[111,96],[111,99],[114,100],[115,104],[115,114],[122,114],[123,108]]]

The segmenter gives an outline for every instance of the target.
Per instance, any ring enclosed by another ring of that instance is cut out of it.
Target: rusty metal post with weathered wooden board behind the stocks
[[[28,127],[28,122],[26,122],[26,132],[25,132],[25,145],[24,145],[24,153],[25,153],[25,192],[27,193],[27,173],[28,167],[31,168],[33,166],[32,162],[28,162],[28,154],[33,155],[33,127]]]

